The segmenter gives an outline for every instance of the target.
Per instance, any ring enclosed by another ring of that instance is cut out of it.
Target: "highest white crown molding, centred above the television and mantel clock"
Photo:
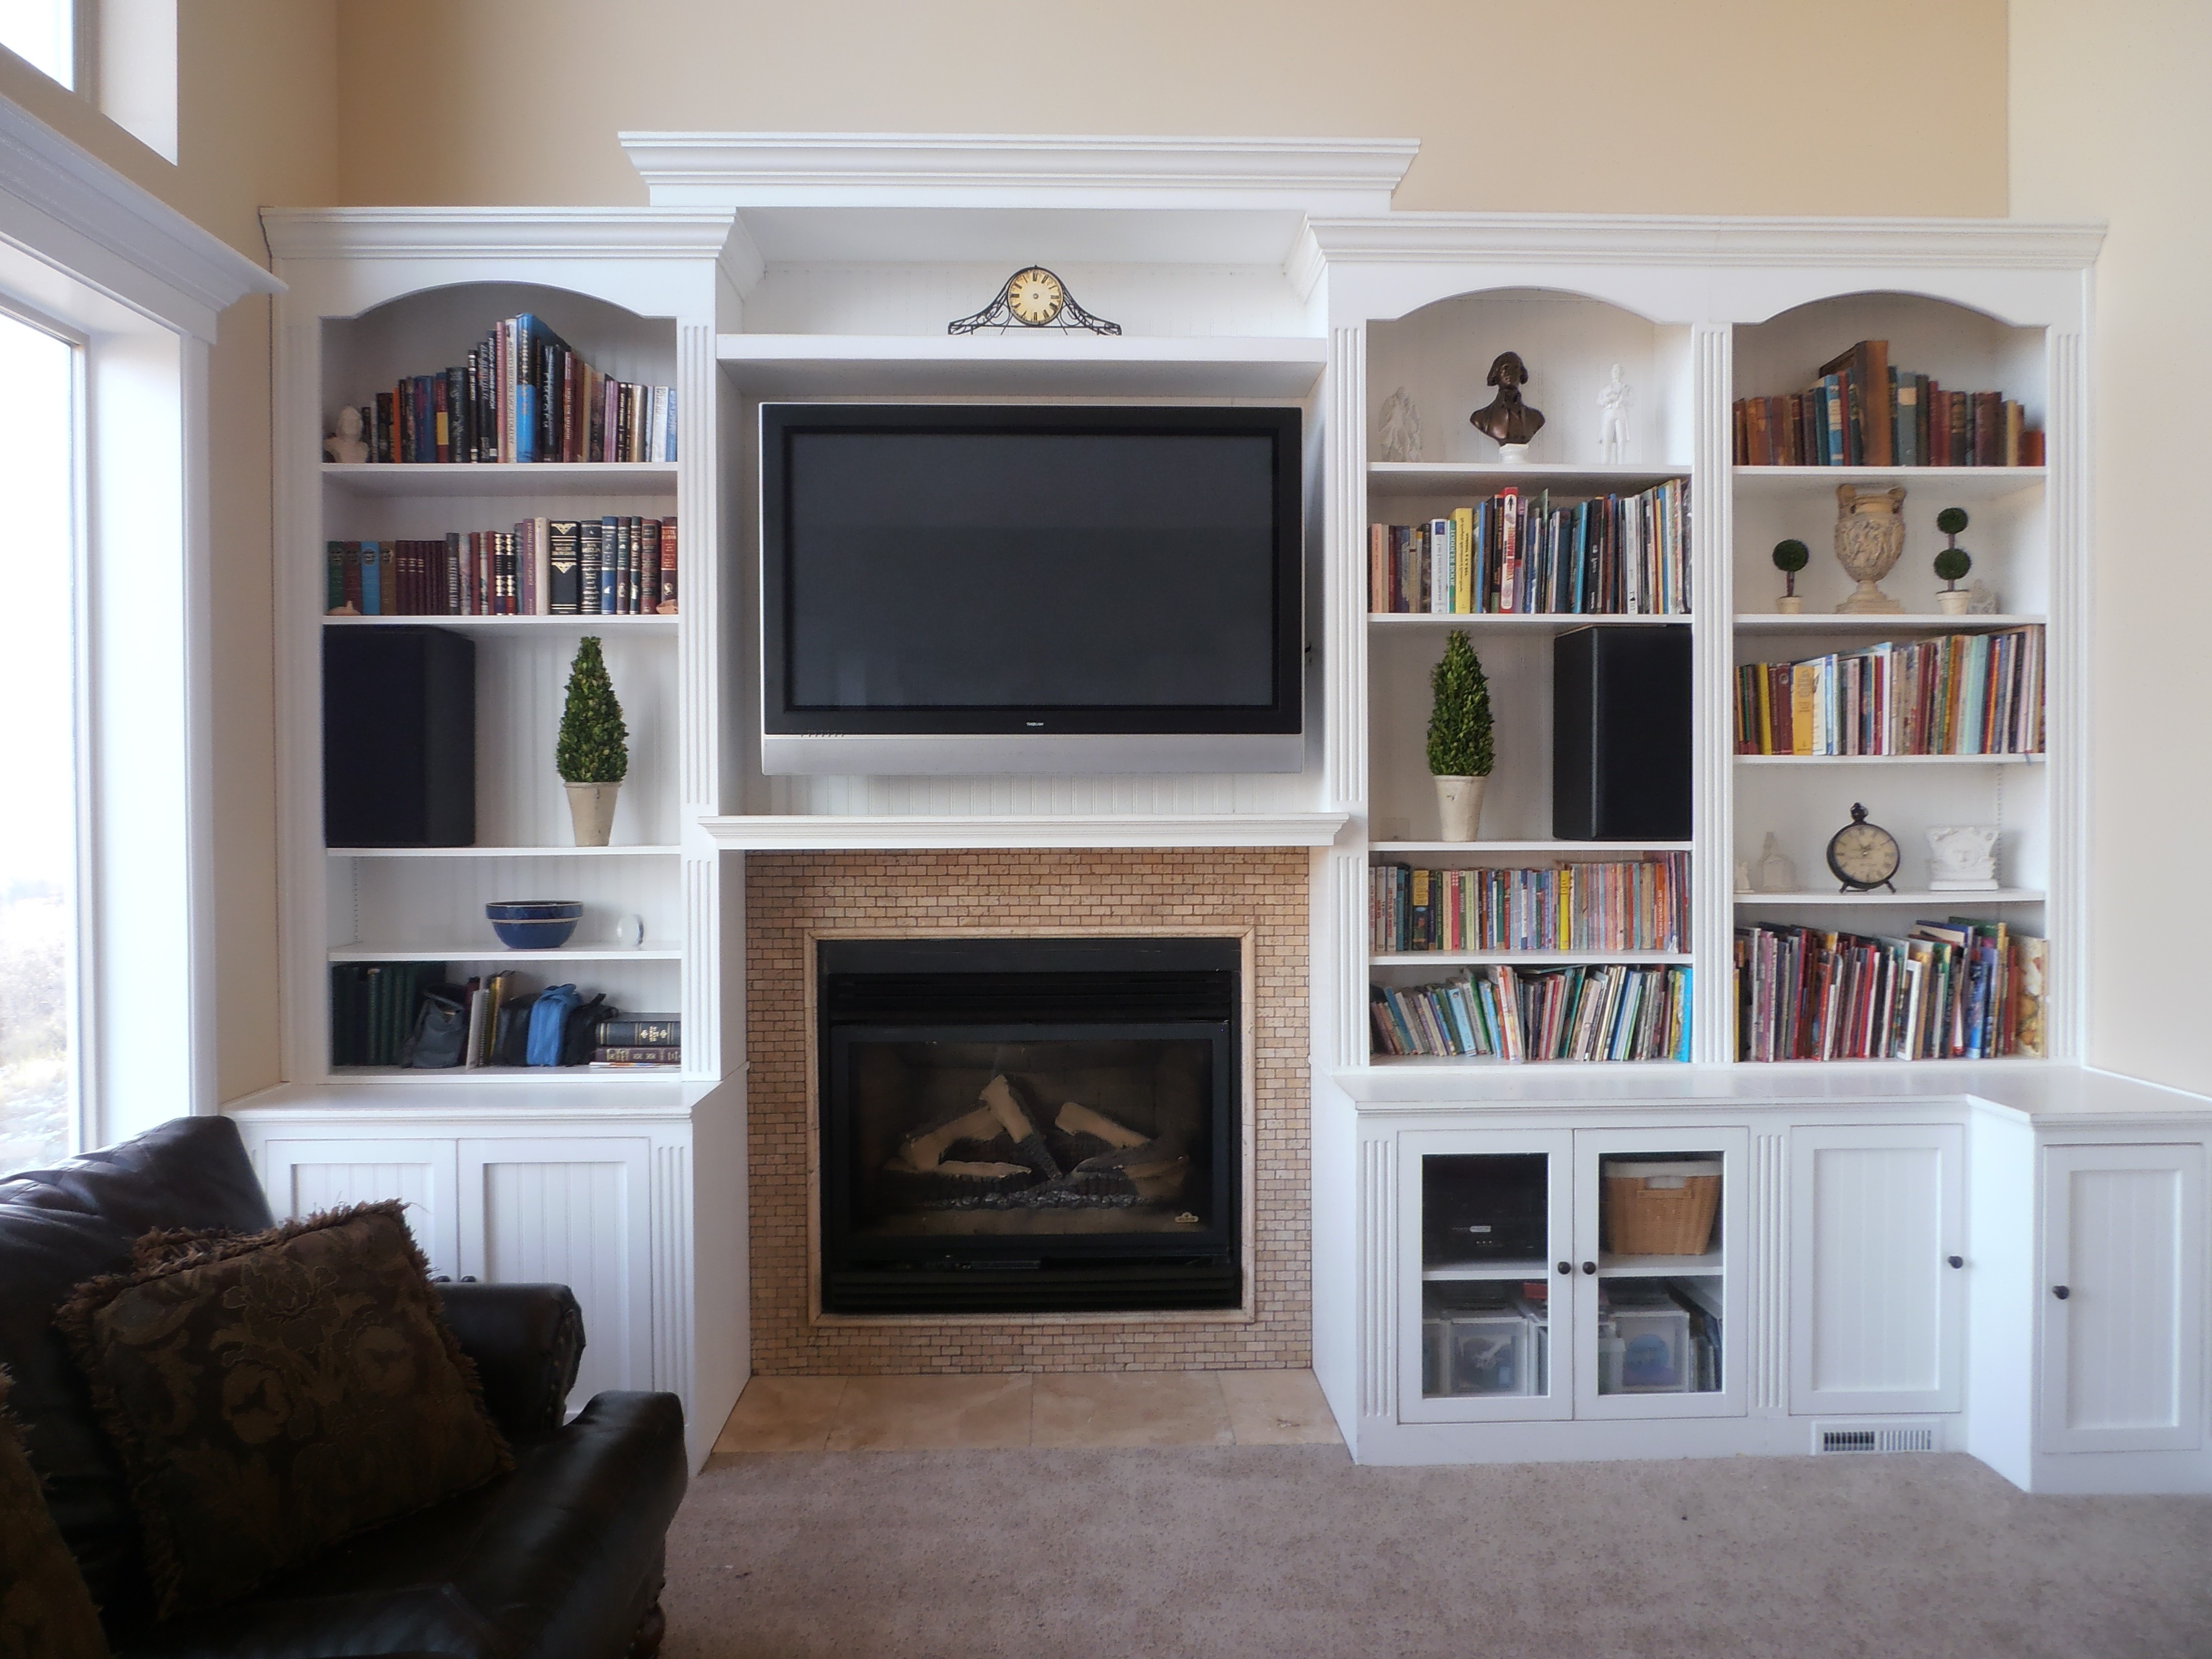
[[[1383,212],[1418,139],[1037,133],[622,133],[668,206]]]

